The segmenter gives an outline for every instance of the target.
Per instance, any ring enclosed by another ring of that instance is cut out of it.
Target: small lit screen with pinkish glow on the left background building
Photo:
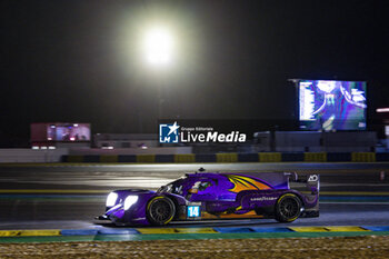
[[[54,123],[47,126],[47,138],[53,141],[89,141],[89,123]]]

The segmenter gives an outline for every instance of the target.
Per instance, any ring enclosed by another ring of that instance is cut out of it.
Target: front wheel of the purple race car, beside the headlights
[[[149,222],[153,226],[163,226],[169,223],[176,215],[174,202],[168,197],[158,196],[152,198],[146,210]]]

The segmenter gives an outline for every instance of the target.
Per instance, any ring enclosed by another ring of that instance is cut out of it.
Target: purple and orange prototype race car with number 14
[[[303,182],[307,191],[290,189]],[[109,193],[100,220],[117,226],[163,226],[174,220],[275,218],[292,222],[299,217],[319,217],[318,175],[298,180],[295,172],[187,173],[151,190],[116,190]]]

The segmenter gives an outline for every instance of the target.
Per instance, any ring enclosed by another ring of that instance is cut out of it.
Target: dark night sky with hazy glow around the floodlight
[[[389,106],[385,1],[2,0],[0,145],[27,146],[31,122],[154,132],[164,118],[295,118],[289,78],[367,80],[369,116]],[[162,22],[173,64],[140,58]]]

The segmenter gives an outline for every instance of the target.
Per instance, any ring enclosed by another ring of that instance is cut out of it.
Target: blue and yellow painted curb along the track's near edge
[[[0,230],[3,242],[130,241],[159,239],[230,239],[389,236],[389,226],[215,227]]]

